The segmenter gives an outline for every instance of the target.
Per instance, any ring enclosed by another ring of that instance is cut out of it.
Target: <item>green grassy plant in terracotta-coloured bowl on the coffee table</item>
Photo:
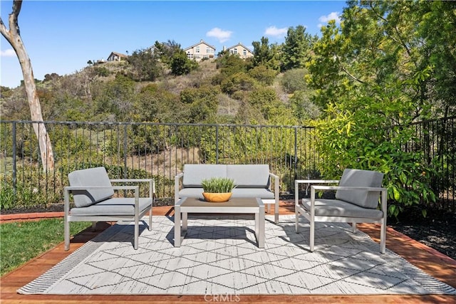
[[[228,201],[232,195],[232,189],[236,187],[234,179],[227,177],[212,177],[210,179],[202,179],[201,181],[204,199],[214,203]]]

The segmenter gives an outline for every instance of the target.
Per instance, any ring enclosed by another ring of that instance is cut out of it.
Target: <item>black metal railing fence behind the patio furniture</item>
[[[51,172],[43,172],[33,123],[45,124],[51,138]],[[424,152],[423,162],[437,166],[432,189],[440,206],[456,211],[455,117],[408,127],[420,140],[404,149]],[[175,174],[187,163],[269,164],[286,195],[294,179],[320,177],[324,159],[315,143],[313,128],[304,126],[1,121],[0,198],[53,204],[62,200],[69,172],[103,165],[111,178],[154,177],[157,198],[172,199]]]

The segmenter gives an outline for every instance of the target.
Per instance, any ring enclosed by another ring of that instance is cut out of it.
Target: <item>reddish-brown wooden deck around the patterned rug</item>
[[[172,207],[154,207],[155,215],[172,214]],[[294,203],[281,201],[280,214],[294,214]],[[98,223],[97,231],[90,229],[75,236],[70,251],[63,251],[63,243],[7,273],[0,281],[1,303],[205,303],[217,299],[190,295],[19,295],[18,288],[41,276],[49,268],[108,228]],[[373,224],[359,224],[359,228],[379,241],[380,231]],[[63,229],[63,227],[62,227]],[[403,234],[388,228],[387,248],[421,268],[431,276],[456,287],[456,261]],[[238,300],[238,301],[237,301]],[[224,301],[239,303],[456,303],[453,295],[240,295]]]

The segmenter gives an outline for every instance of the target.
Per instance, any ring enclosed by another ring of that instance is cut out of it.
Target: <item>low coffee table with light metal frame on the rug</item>
[[[259,248],[264,248],[264,204],[259,198],[232,198],[223,203],[182,197],[174,205],[174,246],[180,247],[187,233],[187,214],[255,214],[255,236]],[[181,226],[182,214],[182,226]]]

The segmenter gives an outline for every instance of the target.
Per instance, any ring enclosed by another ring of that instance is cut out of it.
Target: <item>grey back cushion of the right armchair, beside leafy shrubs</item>
[[[339,186],[345,187],[382,187],[383,173],[359,169],[345,169]],[[378,206],[380,192],[362,190],[338,190],[336,199],[348,201],[364,208],[375,209]]]

